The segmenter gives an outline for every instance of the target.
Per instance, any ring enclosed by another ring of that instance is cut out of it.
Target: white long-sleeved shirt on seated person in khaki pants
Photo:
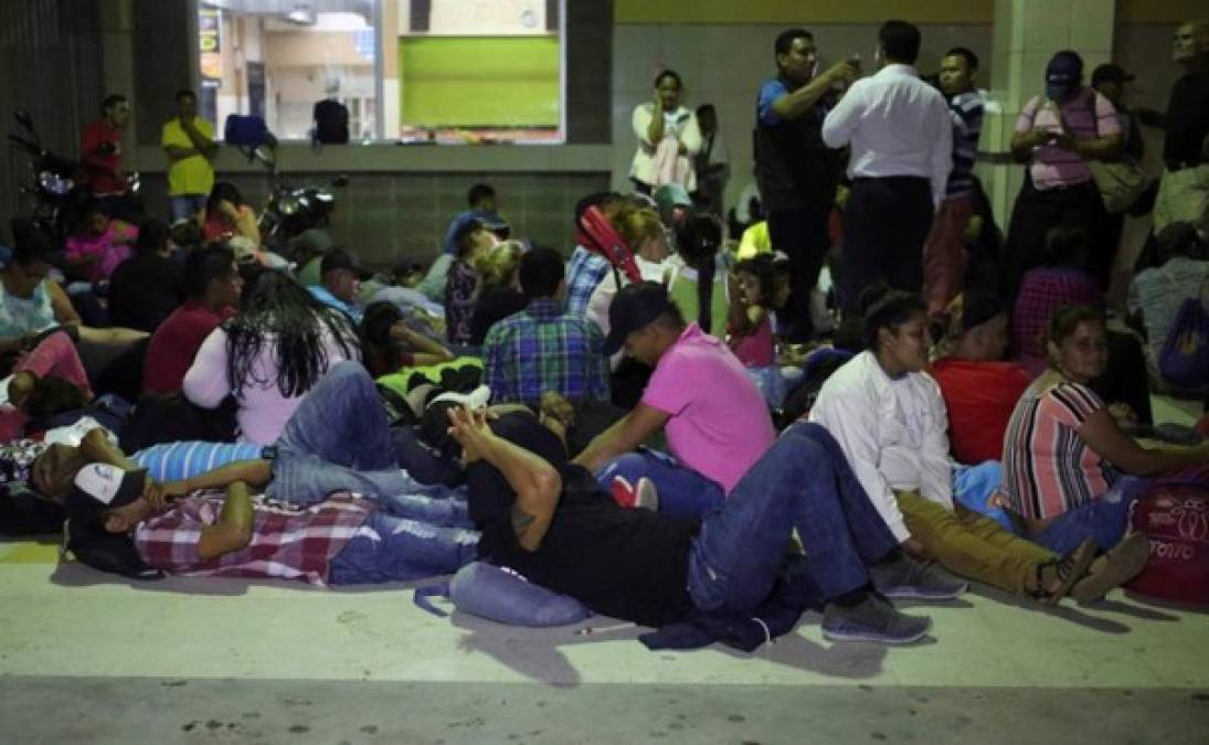
[[[837,370],[818,392],[810,421],[831,432],[861,486],[899,542],[910,537],[895,490],[918,491],[953,509],[948,412],[927,372],[891,380],[873,352]]]

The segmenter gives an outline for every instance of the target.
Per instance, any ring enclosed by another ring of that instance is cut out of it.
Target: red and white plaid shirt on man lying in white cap
[[[195,577],[278,577],[324,584],[328,565],[359,535],[374,504],[347,492],[307,508],[253,502],[251,542],[214,559],[197,555],[202,530],[219,521],[226,497],[206,492],[178,501],[134,531],[143,560],[173,574]]]

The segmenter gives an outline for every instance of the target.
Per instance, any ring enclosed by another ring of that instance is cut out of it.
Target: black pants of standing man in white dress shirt
[[[932,184],[918,177],[858,178],[844,209],[840,302],[857,310],[879,281],[909,293],[924,287],[924,241],[932,227]]]

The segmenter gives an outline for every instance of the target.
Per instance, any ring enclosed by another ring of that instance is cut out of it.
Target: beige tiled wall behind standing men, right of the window
[[[728,204],[751,179],[751,132],[759,86],[776,74],[773,42],[786,25],[618,25],[613,29],[613,184],[626,185],[635,137],[630,129],[634,106],[650,100],[658,71],[671,68],[684,80],[683,103],[695,108],[712,103],[730,151]],[[821,67],[860,53],[866,69],[873,65],[878,27],[874,24],[809,27],[822,56]],[[982,79],[990,80],[991,31],[980,25],[921,25],[924,47],[920,69],[936,71],[941,57],[961,45],[982,62]]]

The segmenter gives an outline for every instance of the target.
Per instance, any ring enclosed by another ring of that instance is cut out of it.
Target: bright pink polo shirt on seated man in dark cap
[[[676,460],[727,493],[776,440],[744,365],[695,323],[659,359],[642,403],[671,417],[664,432]]]

